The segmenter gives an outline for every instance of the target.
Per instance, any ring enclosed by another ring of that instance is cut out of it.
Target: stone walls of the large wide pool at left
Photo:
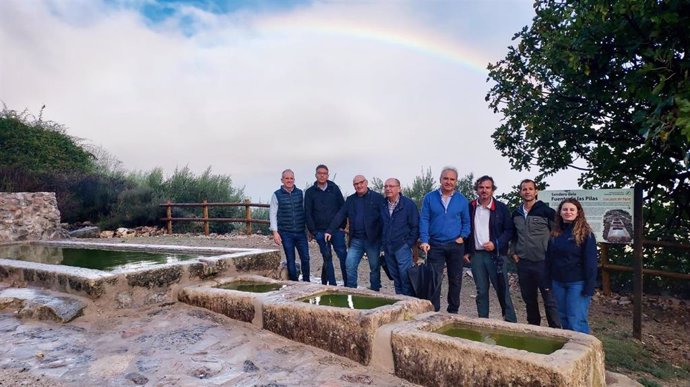
[[[53,264],[52,258],[46,262],[29,262],[0,256],[0,280],[87,297],[116,308],[175,301],[180,288],[219,275],[274,276],[280,268],[280,254],[263,249],[73,241],[0,243],[0,247],[30,249],[36,253],[46,247],[59,247],[200,255],[190,260],[114,270]]]

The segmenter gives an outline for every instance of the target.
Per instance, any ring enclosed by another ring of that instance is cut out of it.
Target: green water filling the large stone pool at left
[[[0,258],[112,271],[138,269],[199,258],[199,254],[116,251],[53,246],[0,247]]]

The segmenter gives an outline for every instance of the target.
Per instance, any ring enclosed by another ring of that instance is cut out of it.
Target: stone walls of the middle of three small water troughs
[[[350,309],[305,302],[324,294],[382,298],[393,303],[373,309]],[[311,284],[291,286],[267,295],[263,303],[263,326],[291,340],[368,365],[379,328],[431,310],[433,306],[427,300]]]

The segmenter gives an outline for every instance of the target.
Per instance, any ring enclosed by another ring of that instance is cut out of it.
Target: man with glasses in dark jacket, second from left
[[[326,229],[331,220],[340,211],[345,203],[340,187],[328,180],[328,167],[320,164],[316,167],[316,181],[314,185],[307,188],[304,194],[304,212],[307,215],[307,229],[316,239],[323,256],[323,270],[321,270],[321,283],[326,285],[336,285],[335,267],[333,266],[333,250],[335,250],[340,260],[340,270],[343,273],[343,283],[347,283],[347,271],[345,270],[345,257],[347,247],[345,245],[345,222],[333,230],[331,241],[325,238]]]

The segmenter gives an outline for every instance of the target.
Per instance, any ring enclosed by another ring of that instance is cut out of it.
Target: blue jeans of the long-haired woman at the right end
[[[553,296],[556,298],[558,313],[564,329],[589,333],[589,302],[592,296],[583,296],[585,281],[558,282],[552,281]]]

